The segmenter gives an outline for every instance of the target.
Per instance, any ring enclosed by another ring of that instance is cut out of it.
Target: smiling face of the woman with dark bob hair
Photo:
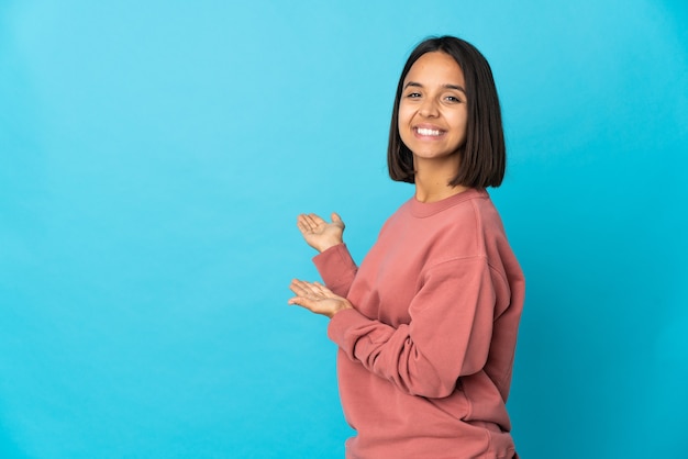
[[[414,159],[446,159],[466,142],[466,83],[452,56],[422,55],[411,66],[399,102],[399,134]]]

